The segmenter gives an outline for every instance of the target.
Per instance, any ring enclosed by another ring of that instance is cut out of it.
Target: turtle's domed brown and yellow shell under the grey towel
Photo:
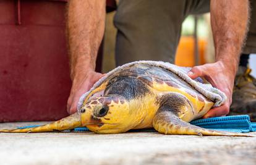
[[[94,96],[103,95],[104,90],[109,84],[116,81],[116,79],[119,77],[126,76],[139,78],[145,84],[147,84],[149,90],[155,93],[163,93],[168,91],[181,93],[193,104],[197,114],[201,114],[201,111],[208,111],[211,106],[213,106],[213,102],[211,102],[200,92],[195,90],[189,83],[182,80],[182,78],[170,70],[143,63],[135,63],[116,70],[116,72],[109,75],[99,87],[91,91],[85,100],[88,101]],[[200,79],[197,79],[197,81],[200,81]]]

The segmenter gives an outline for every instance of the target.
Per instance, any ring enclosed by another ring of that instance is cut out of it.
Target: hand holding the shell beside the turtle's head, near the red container
[[[69,112],[69,114],[77,112],[77,103],[79,102],[80,96],[90,90],[93,84],[101,77],[103,77],[103,74],[95,72],[94,70],[88,70],[74,77],[69,99],[67,100],[67,112]]]

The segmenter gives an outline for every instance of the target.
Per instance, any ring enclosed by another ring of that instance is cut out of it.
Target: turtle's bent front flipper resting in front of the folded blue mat
[[[193,111],[187,98],[178,93],[170,93],[164,96],[160,108],[153,118],[153,127],[160,133],[172,135],[216,135],[252,137],[245,133],[222,132],[203,129],[188,122],[182,121],[178,116],[183,112]]]

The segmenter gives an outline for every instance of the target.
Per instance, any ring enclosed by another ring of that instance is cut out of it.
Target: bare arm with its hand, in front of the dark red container
[[[104,0],[70,0],[67,12],[67,41],[70,55],[72,88],[67,111],[77,111],[77,103],[102,74],[96,73],[95,62],[105,29]]]

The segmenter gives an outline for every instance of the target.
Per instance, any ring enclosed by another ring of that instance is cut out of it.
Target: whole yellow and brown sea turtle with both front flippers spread
[[[53,132],[86,126],[95,133],[155,128],[164,134],[248,136],[189,124],[214,102],[161,66],[138,62],[108,75],[83,99],[79,112],[51,124],[0,132]]]

